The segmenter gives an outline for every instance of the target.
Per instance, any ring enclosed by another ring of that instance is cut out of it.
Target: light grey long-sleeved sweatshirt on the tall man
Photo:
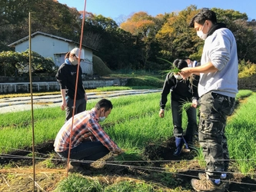
[[[228,28],[219,28],[205,39],[201,65],[209,61],[218,71],[200,74],[199,97],[213,91],[235,98],[238,93],[238,53],[234,35]]]

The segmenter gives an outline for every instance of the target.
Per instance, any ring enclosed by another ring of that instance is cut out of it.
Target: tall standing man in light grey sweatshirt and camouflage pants
[[[238,93],[238,54],[232,32],[222,23],[217,23],[215,12],[201,9],[192,18],[190,26],[204,40],[201,66],[181,69],[182,78],[200,74],[198,94],[201,114],[199,143],[206,161],[205,174],[192,179],[197,191],[224,191],[228,170],[228,144],[224,134],[227,116],[234,111]],[[223,161],[225,160],[225,161]]]

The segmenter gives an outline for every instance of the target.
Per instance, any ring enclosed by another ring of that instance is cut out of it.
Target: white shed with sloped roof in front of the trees
[[[52,58],[58,67],[64,63],[65,54],[73,48],[79,48],[79,43],[55,35],[49,35],[41,31],[33,33],[31,38],[32,51],[37,52],[44,58]],[[29,48],[29,36],[8,45],[15,47],[16,52],[26,51]],[[97,51],[88,46],[81,45],[81,51],[85,60],[80,62],[83,74],[93,74],[92,51]]]

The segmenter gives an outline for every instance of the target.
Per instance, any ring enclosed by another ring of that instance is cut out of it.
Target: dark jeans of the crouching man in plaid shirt
[[[70,159],[88,161],[84,164],[91,164],[92,161],[97,161],[109,153],[107,147],[101,144],[100,141],[85,141],[74,147],[70,151]],[[68,150],[58,152],[58,155],[64,159],[68,158]]]

